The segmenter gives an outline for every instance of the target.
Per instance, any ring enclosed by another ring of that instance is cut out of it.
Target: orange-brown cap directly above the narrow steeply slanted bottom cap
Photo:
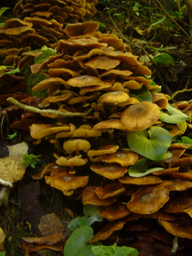
[[[110,221],[122,219],[131,213],[131,211],[127,208],[127,205],[124,204],[100,208],[98,209],[98,212],[103,218]]]

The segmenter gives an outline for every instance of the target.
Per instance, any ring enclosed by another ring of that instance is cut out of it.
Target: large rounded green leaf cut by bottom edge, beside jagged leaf
[[[93,229],[89,226],[77,228],[68,238],[64,256],[95,256],[92,246],[87,243],[93,238]]]

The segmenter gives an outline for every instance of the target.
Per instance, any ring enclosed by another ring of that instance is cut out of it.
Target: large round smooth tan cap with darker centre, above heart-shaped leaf
[[[127,108],[121,115],[124,127],[133,131],[145,130],[160,117],[159,107],[150,102],[139,102]]]

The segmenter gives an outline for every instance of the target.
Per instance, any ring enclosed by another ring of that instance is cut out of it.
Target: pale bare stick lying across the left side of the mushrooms
[[[58,116],[87,116],[94,109],[94,108],[90,108],[85,113],[61,112],[59,110],[54,110],[54,109],[39,109],[39,108],[31,107],[31,106],[20,103],[18,100],[13,99],[12,97],[9,97],[7,101],[24,110],[35,112],[38,114],[52,114],[52,115],[58,115]]]

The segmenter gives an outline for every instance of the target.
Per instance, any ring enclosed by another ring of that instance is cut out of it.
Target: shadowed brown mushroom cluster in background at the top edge
[[[13,14],[22,17],[57,20],[60,24],[83,22],[84,17],[92,17],[97,9],[98,0],[20,0],[13,9]],[[44,26],[47,26],[46,24]]]

